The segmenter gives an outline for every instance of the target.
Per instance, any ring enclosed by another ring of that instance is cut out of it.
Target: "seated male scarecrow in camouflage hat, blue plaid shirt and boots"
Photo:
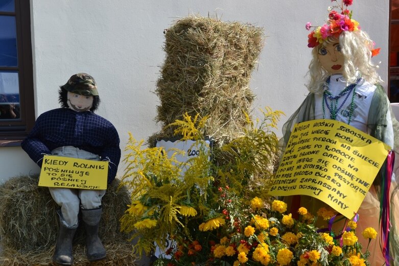
[[[106,119],[93,113],[100,103],[95,80],[88,74],[73,75],[60,86],[61,108],[40,115],[21,146],[41,167],[43,156],[72,157],[93,161],[109,161],[108,184],[116,175],[121,158],[119,136]],[[72,265],[72,240],[78,228],[78,214],[86,229],[87,258],[104,259],[106,251],[98,236],[102,214],[101,199],[105,190],[49,188],[57,210],[60,226],[53,261]]]

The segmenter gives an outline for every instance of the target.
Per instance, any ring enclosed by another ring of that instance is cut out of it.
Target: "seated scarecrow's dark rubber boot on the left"
[[[67,228],[62,223],[61,211],[57,210],[57,214],[60,217],[60,228],[53,254],[53,261],[63,266],[72,265],[74,264],[74,257],[72,256],[72,241],[74,240],[76,228]]]

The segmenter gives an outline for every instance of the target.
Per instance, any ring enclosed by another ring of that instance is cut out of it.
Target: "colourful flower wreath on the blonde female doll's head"
[[[311,28],[315,28],[308,35],[308,47],[314,48],[320,43],[323,43],[328,37],[333,36],[339,38],[339,35],[344,31],[359,31],[359,22],[352,19],[352,11],[347,9],[348,6],[352,5],[353,0],[341,0],[341,4],[337,0],[331,0],[331,2],[337,2],[337,6],[328,7],[328,20],[323,26],[312,27],[312,24],[308,22],[306,29],[309,31]],[[339,8],[341,12],[337,12],[334,9]],[[372,49],[371,56],[378,55],[380,48]]]

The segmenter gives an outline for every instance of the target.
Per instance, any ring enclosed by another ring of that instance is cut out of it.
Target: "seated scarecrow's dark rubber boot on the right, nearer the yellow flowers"
[[[86,229],[86,255],[89,261],[102,260],[107,255],[98,235],[101,214],[101,207],[91,210],[82,209],[82,220]]]

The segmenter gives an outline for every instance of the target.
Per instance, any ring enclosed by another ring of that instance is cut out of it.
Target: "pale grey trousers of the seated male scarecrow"
[[[100,157],[97,154],[73,146],[59,147],[52,150],[51,153],[62,157],[100,161]],[[101,199],[105,194],[105,190],[53,187],[49,187],[49,190],[54,201],[61,207],[61,222],[71,229],[78,227],[79,210],[81,208],[90,210],[101,207]]]

